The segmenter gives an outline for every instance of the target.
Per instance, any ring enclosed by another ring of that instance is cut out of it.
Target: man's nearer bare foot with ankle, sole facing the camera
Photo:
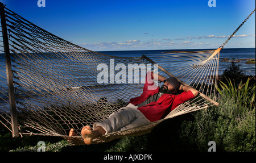
[[[95,129],[92,130],[89,126],[85,126],[82,128],[81,135],[84,137],[84,143],[87,145],[92,144],[92,140],[95,137],[104,135],[106,133],[105,129],[102,128],[101,126],[96,127]]]

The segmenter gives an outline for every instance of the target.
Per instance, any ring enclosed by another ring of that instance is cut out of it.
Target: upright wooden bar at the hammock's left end
[[[11,124],[12,124],[11,127],[13,129],[13,137],[19,137],[17,112],[16,112],[16,105],[15,105],[15,95],[14,95],[13,73],[11,71],[11,55],[10,55],[6,19],[5,19],[5,6],[1,2],[0,2],[0,15],[1,15],[2,35],[3,35],[3,48],[5,51],[6,76],[7,76],[7,84],[9,89],[10,113],[11,113]]]

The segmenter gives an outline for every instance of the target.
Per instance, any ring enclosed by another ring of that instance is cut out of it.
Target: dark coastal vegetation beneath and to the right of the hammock
[[[216,151],[255,152],[255,76],[245,76],[234,61],[222,75],[217,86],[219,107],[165,120],[146,135],[123,137],[104,144],[71,146],[58,137],[13,139],[9,130],[0,125],[0,151],[37,151],[38,141],[45,141],[46,151],[207,152],[209,141],[214,141]]]

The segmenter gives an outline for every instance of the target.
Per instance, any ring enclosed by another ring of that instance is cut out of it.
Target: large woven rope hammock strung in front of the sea
[[[3,54],[0,57],[5,58],[1,60],[4,62],[10,51],[11,73],[1,67],[0,122],[7,128],[12,127],[9,129],[14,137],[17,134],[60,136],[71,144],[84,144],[81,136],[68,136],[69,130],[74,128],[80,133],[82,127],[105,120],[112,112],[126,106],[130,98],[141,95],[143,83],[139,81],[149,70],[158,70],[164,77],[175,76],[184,85],[199,90],[200,95],[181,104],[162,120],[109,133],[97,137],[92,143],[142,135],[163,120],[218,105],[215,85],[218,59],[225,44],[208,51],[166,52],[141,57],[109,56],[63,40],[15,14],[2,3],[1,6],[0,50]],[[8,46],[5,35],[8,36]],[[108,65],[106,83],[97,82],[96,77],[102,71],[97,68],[100,64]],[[133,65],[133,76],[125,76],[127,80],[122,83],[117,83],[117,80],[111,83],[120,71],[117,65],[125,65],[122,70],[127,74],[131,70],[129,65]],[[139,74],[139,78],[135,74]],[[13,84],[10,84],[10,79]]]

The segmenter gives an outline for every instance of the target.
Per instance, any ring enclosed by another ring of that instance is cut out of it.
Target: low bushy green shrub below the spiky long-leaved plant
[[[216,142],[217,151],[255,151],[255,108],[249,111],[226,99],[219,101],[220,107],[197,111],[194,120],[184,121],[180,140],[199,151],[208,151],[209,141]]]

